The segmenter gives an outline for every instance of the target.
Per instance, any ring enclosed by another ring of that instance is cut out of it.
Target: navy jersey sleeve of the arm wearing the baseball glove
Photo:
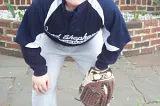
[[[97,57],[96,67],[105,69],[117,61],[124,46],[131,41],[131,37],[123,16],[114,1],[99,0],[99,4],[104,14],[104,45],[102,52]]]

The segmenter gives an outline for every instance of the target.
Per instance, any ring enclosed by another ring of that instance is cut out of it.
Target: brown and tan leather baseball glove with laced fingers
[[[115,79],[110,68],[91,67],[79,87],[80,101],[85,106],[108,106],[114,91]]]

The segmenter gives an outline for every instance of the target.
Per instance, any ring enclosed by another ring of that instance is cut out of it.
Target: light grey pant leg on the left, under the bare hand
[[[41,43],[41,55],[46,60],[46,65],[50,78],[50,88],[46,94],[37,94],[32,90],[32,106],[57,106],[56,103],[56,85],[61,66],[64,62],[65,55],[58,50],[54,42],[44,36]]]

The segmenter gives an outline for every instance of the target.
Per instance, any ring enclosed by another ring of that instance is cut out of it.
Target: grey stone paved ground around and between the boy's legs
[[[116,77],[111,106],[160,106],[160,53],[121,57],[111,67]],[[74,99],[81,79],[76,64],[65,62],[58,106],[83,106]],[[0,55],[0,106],[31,106],[31,70],[23,59]]]

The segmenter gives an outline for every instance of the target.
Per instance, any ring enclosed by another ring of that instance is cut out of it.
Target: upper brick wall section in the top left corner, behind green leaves
[[[0,0],[0,10],[6,10],[4,2],[9,2],[13,5],[14,9],[26,9],[32,0]]]

